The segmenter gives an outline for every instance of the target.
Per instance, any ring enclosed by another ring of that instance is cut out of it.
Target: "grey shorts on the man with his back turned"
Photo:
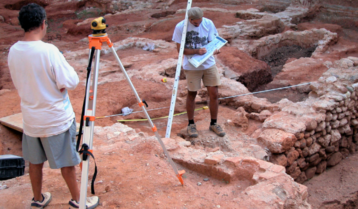
[[[81,158],[76,151],[76,120],[69,130],[55,136],[31,137],[24,133],[22,149],[24,160],[32,164],[48,160],[52,169],[78,165]]]

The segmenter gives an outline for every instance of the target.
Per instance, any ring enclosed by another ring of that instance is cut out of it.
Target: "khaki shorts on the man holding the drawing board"
[[[184,70],[184,73],[185,77],[187,77],[187,85],[189,91],[199,91],[201,89],[201,80],[203,80],[203,84],[205,87],[219,86],[221,84],[216,64],[206,70]]]

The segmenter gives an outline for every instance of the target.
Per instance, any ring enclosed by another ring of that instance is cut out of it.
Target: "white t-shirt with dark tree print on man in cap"
[[[176,43],[182,42],[182,34],[184,28],[184,20],[180,21],[175,26],[173,33],[173,41]],[[200,23],[199,27],[195,27],[193,24],[188,21],[188,30],[187,37],[185,39],[185,48],[189,49],[199,49],[200,47],[206,45],[207,43],[214,40],[218,35],[218,31],[215,28],[213,21],[207,18],[203,18],[203,21]],[[214,56],[210,56],[205,62],[200,65],[198,68],[195,68],[188,59],[193,55],[184,55],[183,69],[185,70],[205,70],[215,64]]]

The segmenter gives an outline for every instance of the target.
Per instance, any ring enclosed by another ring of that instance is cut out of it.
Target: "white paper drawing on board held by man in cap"
[[[213,55],[216,49],[220,49],[227,43],[227,40],[217,36],[214,40],[209,42],[207,45],[202,48],[206,48],[207,52],[203,55],[195,54],[193,57],[189,58],[188,61],[194,65],[194,67],[199,67],[205,60],[207,60],[211,55]]]

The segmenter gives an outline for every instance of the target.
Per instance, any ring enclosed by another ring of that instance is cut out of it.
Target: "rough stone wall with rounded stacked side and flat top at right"
[[[285,166],[298,183],[357,150],[358,58],[326,64],[329,70],[310,84],[306,101],[282,99],[261,107],[279,106],[280,111],[263,122],[257,140],[270,150],[270,161]]]

